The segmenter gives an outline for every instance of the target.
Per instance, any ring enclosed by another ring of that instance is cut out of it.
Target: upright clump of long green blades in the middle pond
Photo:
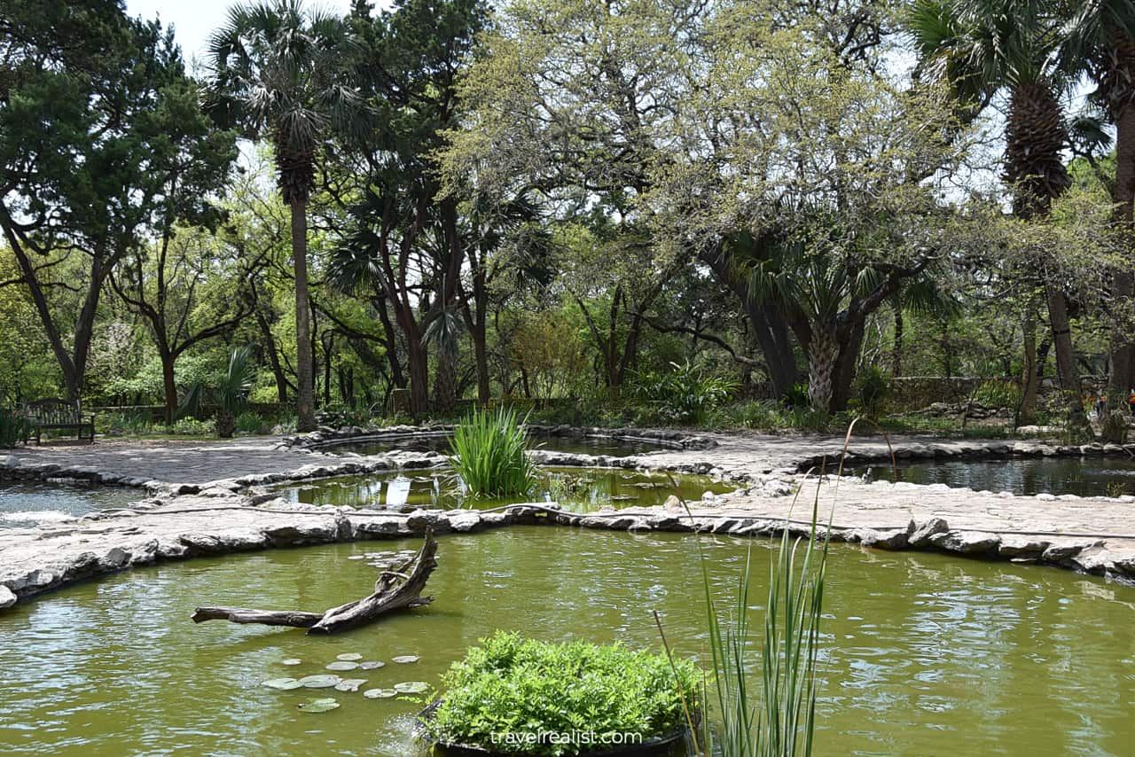
[[[454,429],[449,464],[476,497],[507,497],[536,483],[528,432],[512,409],[476,409]]]

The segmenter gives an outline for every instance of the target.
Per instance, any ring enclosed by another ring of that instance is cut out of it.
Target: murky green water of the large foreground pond
[[[703,537],[725,598],[751,545],[759,609],[770,541]],[[0,752],[418,754],[420,704],[260,682],[323,673],[337,655],[386,662],[363,687],[436,683],[478,637],[706,655],[690,536],[527,527],[444,536],[435,604],[337,637],[209,622],[196,605],[323,609],[364,594],[367,553],[414,540],[305,547],[123,573],[0,613]],[[1051,569],[835,545],[823,625],[817,755],[1129,755],[1135,589]],[[397,655],[419,655],[409,665]],[[300,658],[297,666],[281,664]],[[756,671],[755,671],[756,673]],[[754,679],[756,684],[756,679]],[[296,705],[331,696],[340,707]]]

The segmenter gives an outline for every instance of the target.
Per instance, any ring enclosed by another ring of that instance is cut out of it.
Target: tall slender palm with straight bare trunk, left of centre
[[[340,61],[350,47],[343,23],[303,8],[300,0],[234,6],[209,41],[204,107],[249,138],[267,136],[292,212],[295,269],[296,412],[299,428],[314,428],[314,367],[308,302],[308,201],[316,152],[334,128],[348,127],[359,98]]]

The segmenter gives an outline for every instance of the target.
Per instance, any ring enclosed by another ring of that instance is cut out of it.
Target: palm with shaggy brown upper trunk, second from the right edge
[[[1049,215],[1071,184],[1062,151],[1069,143],[1060,104],[1067,83],[1057,66],[1061,23],[1052,3],[1019,0],[917,0],[908,26],[919,53],[919,74],[947,82],[964,112],[1008,95],[1004,178],[1012,210],[1024,219]],[[1078,432],[1091,431],[1079,401],[1068,301],[1052,276],[1044,277],[1060,384]],[[1026,318],[1026,320],[1028,320]]]

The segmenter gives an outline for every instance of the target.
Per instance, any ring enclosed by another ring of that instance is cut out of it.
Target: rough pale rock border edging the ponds
[[[414,427],[403,427],[414,428]],[[579,429],[563,432],[578,434]],[[403,429],[387,430],[380,436],[405,436]],[[419,429],[420,430],[420,429]],[[432,429],[434,434],[445,429]],[[342,444],[346,440],[373,438],[375,434],[337,435],[317,440]],[[393,432],[392,432],[393,431]],[[583,429],[585,432],[600,429]],[[609,430],[605,430],[609,431]],[[622,431],[622,430],[621,430]],[[641,435],[644,431],[634,430]],[[325,432],[319,432],[321,436]],[[583,465],[597,468],[633,468],[640,470],[673,471],[676,473],[709,474],[731,480],[748,488],[737,493],[743,496],[757,491],[765,496],[785,496],[801,485],[814,480],[791,473],[789,469],[771,472],[730,470],[716,464],[717,441],[709,436],[700,438],[683,432],[663,431],[670,437],[639,436],[645,440],[665,439],[681,444],[683,461],[665,456],[653,461],[657,453],[628,457],[569,455],[539,451],[545,464]],[[596,434],[598,435],[598,434]],[[609,435],[614,436],[614,435]],[[721,438],[721,435],[717,435]],[[632,438],[623,435],[622,438]],[[687,440],[697,439],[687,445]],[[310,441],[310,437],[309,437]],[[295,446],[294,443],[289,446]],[[304,445],[308,448],[309,445]],[[321,445],[320,445],[321,446]],[[1068,447],[1042,441],[916,441],[894,447],[896,457],[902,460],[938,456],[1014,457],[1014,456],[1086,456],[1132,455],[1135,445],[1084,445]],[[700,454],[699,454],[700,453]],[[816,454],[798,460],[797,470],[818,464],[824,457]],[[829,460],[831,455],[829,454]],[[889,461],[890,454],[849,453],[848,464]],[[286,483],[335,476],[364,474],[394,470],[436,468],[443,456],[436,453],[397,453],[373,456],[338,456],[312,451],[312,463],[286,472],[255,473],[239,478],[204,483],[178,483],[91,466],[68,466],[54,463],[25,463],[15,456],[0,459],[0,480],[34,479],[44,481],[85,481],[102,486],[127,486],[146,490],[151,499],[136,506],[94,513],[54,527],[12,529],[0,531],[0,608],[17,602],[76,583],[78,581],[116,573],[135,565],[185,560],[195,556],[216,556],[254,549],[334,544],[368,539],[401,539],[419,536],[427,525],[438,533],[473,532],[512,524],[555,524],[564,527],[622,530],[630,532],[674,531],[716,533],[735,537],[773,537],[787,528],[793,536],[808,535],[808,523],[787,521],[783,518],[757,516],[742,507],[731,506],[734,495],[708,497],[691,503],[691,513],[676,503],[650,508],[625,508],[590,514],[568,513],[543,503],[516,504],[496,511],[426,511],[393,513],[335,507],[272,506],[277,497],[250,487]],[[831,478],[831,477],[829,477]],[[901,485],[900,485],[901,486]],[[931,490],[932,487],[906,485],[911,489]],[[957,489],[964,493],[966,489]],[[999,495],[1011,499],[1011,495]],[[1043,499],[1045,495],[1034,497]],[[1050,499],[1082,499],[1073,495]],[[1083,498],[1110,502],[1135,502],[1135,497]],[[218,518],[227,511],[235,518]],[[923,522],[909,520],[906,525],[874,528],[833,524],[833,541],[847,541],[864,547],[888,550],[933,550],[984,560],[1003,560],[1016,563],[1035,563],[1102,575],[1109,580],[1135,584],[1135,553],[1119,552],[1104,539],[1088,535],[1025,533],[978,529],[952,529],[942,518]],[[1135,537],[1115,537],[1130,539]]]

